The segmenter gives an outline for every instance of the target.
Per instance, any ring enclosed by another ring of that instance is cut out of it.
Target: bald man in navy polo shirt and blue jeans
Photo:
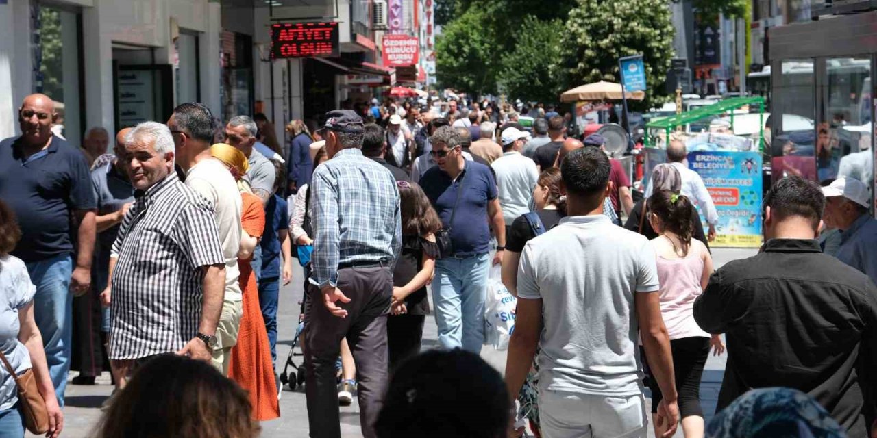
[[[18,110],[21,136],[0,142],[0,199],[18,217],[22,237],[12,255],[25,261],[37,286],[33,315],[64,406],[73,295],[91,286],[96,201],[85,156],[52,134],[56,117],[48,96],[25,97]]]

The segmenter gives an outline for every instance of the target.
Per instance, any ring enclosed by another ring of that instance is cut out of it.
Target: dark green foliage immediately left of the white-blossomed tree
[[[502,57],[498,81],[507,95],[536,102],[555,102],[564,90],[560,77],[563,21],[524,18],[515,45]]]

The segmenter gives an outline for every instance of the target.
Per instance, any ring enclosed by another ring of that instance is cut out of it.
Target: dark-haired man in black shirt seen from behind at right
[[[697,324],[727,336],[717,409],[749,389],[786,386],[809,393],[849,436],[867,437],[877,286],[820,249],[825,198],[815,182],[784,178],[764,205],[764,250],[724,265],[695,300]]]

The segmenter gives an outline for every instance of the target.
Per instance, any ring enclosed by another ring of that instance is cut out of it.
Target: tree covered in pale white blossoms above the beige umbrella
[[[674,28],[667,0],[578,0],[562,34],[567,84],[619,82],[618,59],[643,54],[648,90],[634,108],[667,101],[661,86],[673,58]]]

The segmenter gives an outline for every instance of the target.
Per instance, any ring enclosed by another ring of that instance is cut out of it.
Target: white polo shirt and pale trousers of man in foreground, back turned
[[[605,215],[566,217],[526,244],[517,293],[542,300],[539,411],[545,427],[566,417],[590,424],[595,436],[624,433],[619,424],[633,424],[645,436],[634,296],[659,289],[648,239]]]

